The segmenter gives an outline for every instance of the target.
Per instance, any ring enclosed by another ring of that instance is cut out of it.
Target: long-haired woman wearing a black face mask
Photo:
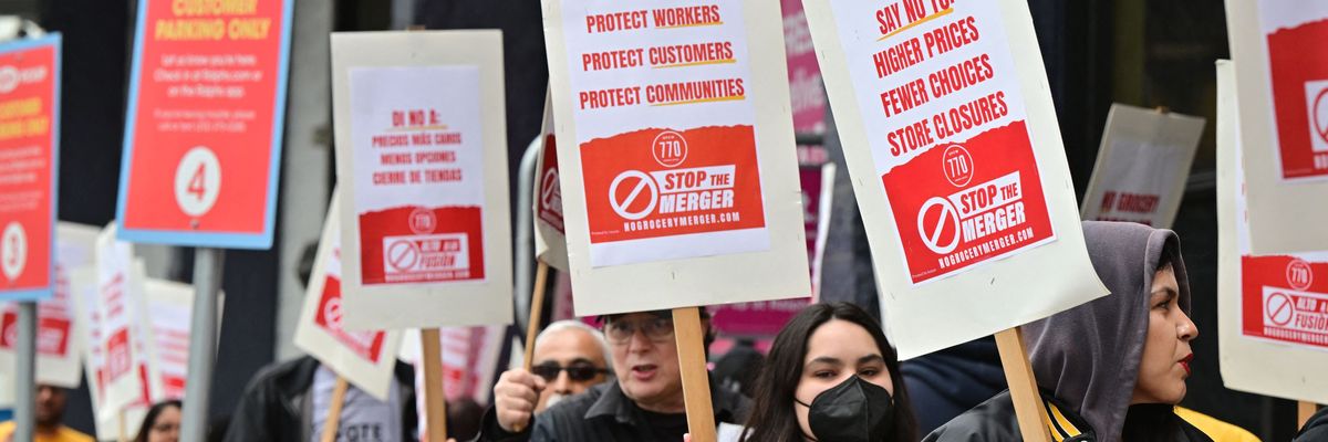
[[[780,331],[742,442],[918,439],[899,361],[862,308],[814,304]]]

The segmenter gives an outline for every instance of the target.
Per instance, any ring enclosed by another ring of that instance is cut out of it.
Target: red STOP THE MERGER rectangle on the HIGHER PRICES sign
[[[914,284],[1054,238],[1023,121],[932,147],[880,179]]]

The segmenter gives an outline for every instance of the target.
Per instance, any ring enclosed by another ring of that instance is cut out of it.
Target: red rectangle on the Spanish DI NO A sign
[[[363,284],[485,279],[479,207],[398,207],[360,215]]]

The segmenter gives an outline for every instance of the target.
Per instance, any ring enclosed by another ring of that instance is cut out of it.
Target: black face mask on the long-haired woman
[[[818,442],[880,442],[895,430],[895,401],[879,385],[851,376],[821,392],[806,406],[807,426]]]

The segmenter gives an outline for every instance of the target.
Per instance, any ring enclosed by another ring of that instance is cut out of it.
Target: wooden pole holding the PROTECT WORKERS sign
[[[696,307],[673,309],[673,338],[677,365],[683,374],[683,401],[692,442],[716,442],[714,409],[710,405],[710,376],[705,370],[705,331]]]

